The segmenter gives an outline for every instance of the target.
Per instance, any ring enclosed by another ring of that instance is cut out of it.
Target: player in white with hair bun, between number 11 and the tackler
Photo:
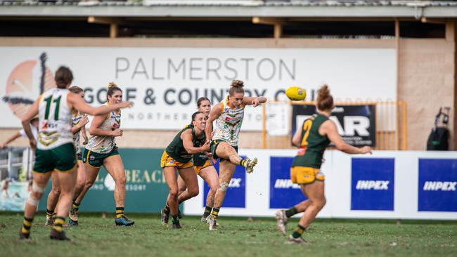
[[[122,101],[122,90],[114,83],[110,83],[107,93],[108,101],[106,106],[110,106]],[[113,110],[108,115],[98,115],[92,120],[89,133],[89,143],[87,143],[84,152],[82,153],[82,161],[86,166],[86,185],[82,190],[79,197],[76,199],[77,203],[81,203],[84,195],[89,188],[94,185],[97,178],[98,171],[103,165],[115,180],[115,204],[116,204],[116,225],[134,225],[133,220],[129,220],[124,215],[125,203],[125,170],[124,164],[117,152],[115,138],[122,136],[121,112],[120,110]]]

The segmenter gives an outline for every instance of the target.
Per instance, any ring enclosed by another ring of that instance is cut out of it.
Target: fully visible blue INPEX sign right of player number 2
[[[394,211],[394,158],[352,158],[351,209]]]

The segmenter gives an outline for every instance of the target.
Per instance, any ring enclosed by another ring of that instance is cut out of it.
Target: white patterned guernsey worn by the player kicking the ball
[[[216,128],[212,140],[223,140],[232,146],[237,146],[238,135],[245,116],[245,105],[232,109],[228,106],[228,96],[221,104],[222,113],[216,119]]]

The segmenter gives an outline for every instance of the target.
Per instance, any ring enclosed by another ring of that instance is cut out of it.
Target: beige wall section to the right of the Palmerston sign
[[[445,39],[401,39],[398,100],[408,104],[409,150],[426,149],[439,107],[451,107],[453,135],[454,48],[454,42]]]

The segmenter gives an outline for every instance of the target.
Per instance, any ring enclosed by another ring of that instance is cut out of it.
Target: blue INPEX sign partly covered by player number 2
[[[270,157],[270,209],[285,209],[306,200],[300,185],[290,180],[293,157]]]

